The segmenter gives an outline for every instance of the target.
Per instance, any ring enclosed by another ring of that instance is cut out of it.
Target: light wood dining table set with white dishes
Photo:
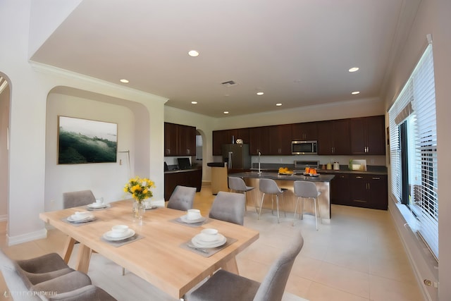
[[[198,227],[185,226],[173,220],[186,212],[166,207],[146,211],[140,225],[133,221],[132,202],[132,199],[111,202],[109,208],[92,211],[96,221],[80,226],[65,219],[86,207],[44,212],[39,218],[68,235],[63,250],[65,259],[70,257],[73,242],[80,242],[75,269],[87,273],[91,253],[95,251],[177,299],[217,269],[237,274],[235,256],[259,238],[259,232],[254,229],[216,219],[207,219]],[[104,241],[102,235],[118,224],[129,226],[142,238],[120,247]],[[210,257],[181,247],[204,228],[216,228],[226,238],[236,241]]]

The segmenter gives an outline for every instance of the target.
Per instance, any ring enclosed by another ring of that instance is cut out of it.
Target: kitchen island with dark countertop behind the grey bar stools
[[[247,192],[248,198],[247,202],[249,206],[254,206],[254,200],[257,201],[257,204],[260,204],[262,193],[259,190],[259,179],[261,178],[269,178],[276,180],[277,185],[280,188],[287,188],[288,191],[283,193],[283,200],[281,199],[280,202],[280,208],[283,211],[286,212],[295,212],[295,204],[296,204],[296,196],[293,189],[293,183],[295,180],[307,180],[314,182],[316,185],[316,189],[318,191],[321,191],[321,195],[319,196],[319,208],[321,215],[319,216],[321,218],[322,223],[330,223],[330,180],[333,179],[333,175],[330,174],[321,174],[317,177],[311,177],[311,176],[303,176],[303,175],[284,175],[279,174],[275,172],[261,172],[258,173],[257,171],[249,171],[244,173],[229,173],[228,176],[234,176],[234,177],[240,177],[245,180],[246,185],[252,186],[255,189]],[[270,202],[265,202],[264,205],[271,204]],[[302,203],[299,202],[299,209],[302,206]],[[270,208],[266,207],[264,208]],[[299,210],[298,210],[299,212]],[[314,207],[313,202],[305,202],[305,213],[313,213]],[[320,214],[320,213],[319,213]]]

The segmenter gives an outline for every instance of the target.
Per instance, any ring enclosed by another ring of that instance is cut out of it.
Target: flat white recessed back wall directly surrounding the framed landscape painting
[[[89,109],[87,109],[89,108]],[[116,163],[58,165],[58,116],[117,123],[118,158]],[[63,209],[63,192],[92,190],[105,202],[129,197],[123,192],[128,179],[135,176],[134,114],[124,106],[50,93],[47,100],[45,211]],[[128,154],[130,151],[131,164]],[[122,163],[122,164],[121,164]]]

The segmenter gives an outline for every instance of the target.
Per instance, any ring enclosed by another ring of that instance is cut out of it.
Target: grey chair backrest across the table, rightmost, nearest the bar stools
[[[211,205],[209,217],[229,223],[245,223],[246,196],[242,193],[219,191]]]

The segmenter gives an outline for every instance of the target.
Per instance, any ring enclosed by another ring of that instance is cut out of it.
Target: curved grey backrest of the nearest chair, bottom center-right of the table
[[[254,301],[282,300],[291,268],[303,245],[304,238],[301,232],[297,231],[290,247],[272,264],[254,296]]]

